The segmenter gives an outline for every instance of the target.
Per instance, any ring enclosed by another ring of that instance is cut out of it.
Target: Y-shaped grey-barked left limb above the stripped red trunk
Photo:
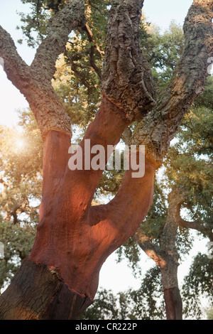
[[[43,138],[50,130],[71,134],[70,117],[51,86],[55,61],[65,50],[72,29],[85,23],[84,1],[68,1],[53,17],[47,38],[40,44],[31,66],[21,59],[9,33],[0,27],[0,56],[13,85],[26,97]]]

